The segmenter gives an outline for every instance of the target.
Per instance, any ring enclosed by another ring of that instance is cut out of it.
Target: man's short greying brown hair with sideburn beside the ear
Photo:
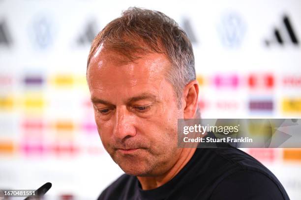
[[[147,53],[165,54],[172,64],[166,79],[173,85],[178,108],[181,108],[183,88],[196,79],[196,74],[191,42],[173,19],[159,11],[136,7],[123,11],[121,17],[106,25],[94,38],[87,69],[101,45],[104,50],[119,53],[127,62]]]

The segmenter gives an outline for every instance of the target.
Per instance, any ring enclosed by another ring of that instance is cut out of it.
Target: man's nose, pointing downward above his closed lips
[[[115,125],[113,134],[116,138],[122,140],[125,137],[133,137],[136,135],[134,126],[135,116],[130,113],[126,107],[116,108]]]

